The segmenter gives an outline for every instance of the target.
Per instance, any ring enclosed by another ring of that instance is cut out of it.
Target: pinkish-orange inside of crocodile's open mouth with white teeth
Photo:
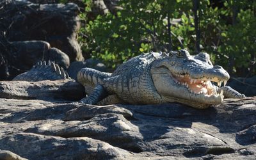
[[[177,84],[185,86],[191,93],[203,94],[205,96],[219,95],[216,92],[216,88],[212,85],[212,82],[216,82],[218,86],[221,86],[222,81],[220,81],[217,77],[193,79],[188,74],[173,74],[173,77],[175,78]],[[225,86],[227,81],[223,81],[223,83]]]

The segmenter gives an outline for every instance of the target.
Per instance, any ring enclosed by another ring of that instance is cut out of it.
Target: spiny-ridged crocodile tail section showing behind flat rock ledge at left
[[[19,74],[13,81],[44,81],[70,78],[67,72],[54,61],[38,61],[31,70]]]

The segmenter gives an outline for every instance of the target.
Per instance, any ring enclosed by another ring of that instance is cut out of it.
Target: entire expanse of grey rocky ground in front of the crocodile
[[[198,110],[0,99],[0,159],[255,159],[256,97]]]

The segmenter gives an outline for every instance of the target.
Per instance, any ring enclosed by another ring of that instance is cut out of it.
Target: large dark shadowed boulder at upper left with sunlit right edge
[[[3,12],[4,11],[4,12]],[[2,31],[10,42],[44,40],[65,52],[70,61],[83,61],[77,42],[80,28],[79,8],[74,3],[34,4],[29,1],[6,1],[0,12]]]

